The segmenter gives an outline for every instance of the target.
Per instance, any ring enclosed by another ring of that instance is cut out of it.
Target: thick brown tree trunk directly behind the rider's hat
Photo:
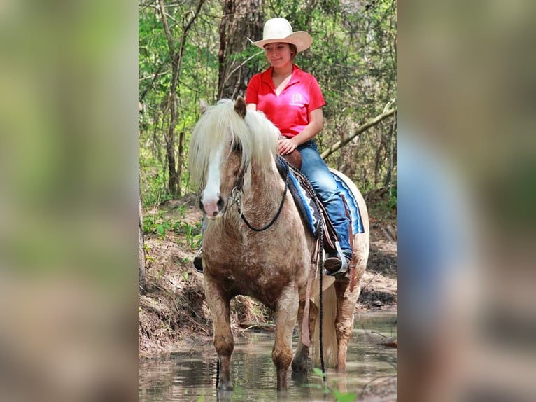
[[[218,97],[234,99],[246,95],[248,82],[257,73],[245,65],[243,55],[262,36],[262,0],[225,0],[220,23],[218,53]]]

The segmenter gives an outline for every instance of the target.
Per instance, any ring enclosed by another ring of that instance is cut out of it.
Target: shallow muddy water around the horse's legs
[[[327,370],[327,385],[337,391],[360,394],[365,384],[396,375],[397,349],[378,345],[397,333],[396,313],[368,313],[355,317],[348,347],[346,373]],[[297,343],[297,336],[293,347]],[[234,391],[216,392],[216,352],[211,340],[185,345],[169,359],[140,363],[139,401],[332,401],[320,389],[320,379],[309,370],[306,378],[292,379],[289,389],[276,391],[276,370],[271,361],[274,333],[245,331],[235,336],[231,363]]]

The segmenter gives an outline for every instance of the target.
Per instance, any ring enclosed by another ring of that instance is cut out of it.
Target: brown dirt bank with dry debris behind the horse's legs
[[[201,221],[192,197],[160,207],[168,222]],[[370,255],[356,311],[397,310],[396,221],[376,221],[371,214]],[[155,216],[157,211],[144,211]],[[145,236],[146,286],[139,293],[139,356],[167,354],[179,342],[212,335],[209,310],[204,302],[202,275],[192,267],[197,249],[188,230],[167,230]],[[199,233],[199,229],[197,229]],[[270,312],[250,298],[239,296],[232,304],[233,330],[241,323],[266,323]]]

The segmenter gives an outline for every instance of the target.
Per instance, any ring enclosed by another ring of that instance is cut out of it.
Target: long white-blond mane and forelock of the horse
[[[204,186],[206,172],[218,149],[228,154],[234,144],[241,144],[242,165],[251,161],[259,169],[267,169],[277,150],[279,130],[259,111],[247,111],[241,118],[234,111],[234,102],[222,99],[202,114],[190,139],[190,174],[192,183]]]

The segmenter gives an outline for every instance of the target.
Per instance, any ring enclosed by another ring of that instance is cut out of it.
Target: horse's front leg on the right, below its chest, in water
[[[292,361],[292,331],[296,324],[299,298],[294,284],[283,290],[276,303],[276,342],[271,359],[277,368],[277,390],[288,388],[288,366]]]

